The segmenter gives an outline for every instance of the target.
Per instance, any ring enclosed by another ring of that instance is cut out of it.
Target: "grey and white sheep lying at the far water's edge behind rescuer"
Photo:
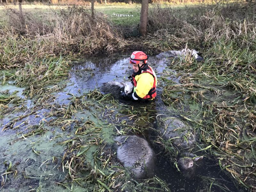
[[[185,58],[187,55],[190,55],[191,57],[195,57],[195,59],[197,61],[203,61],[204,59],[202,57],[200,57],[198,54],[198,52],[194,49],[190,50],[190,49],[182,49],[181,51],[166,51],[166,52],[162,52],[158,55],[156,55],[156,57],[158,58],[167,58],[167,57],[172,57],[172,58]]]

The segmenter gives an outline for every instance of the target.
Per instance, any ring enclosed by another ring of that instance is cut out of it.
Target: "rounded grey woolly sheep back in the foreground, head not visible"
[[[155,153],[147,140],[137,135],[117,136],[114,140],[119,144],[117,158],[124,167],[131,168],[133,178],[145,179],[153,175]]]

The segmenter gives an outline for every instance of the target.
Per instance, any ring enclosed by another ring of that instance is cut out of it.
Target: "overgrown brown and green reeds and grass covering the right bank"
[[[237,12],[231,11],[234,7]],[[241,12],[242,5],[201,8],[151,9],[151,34],[160,29],[164,41],[173,36],[172,42],[178,42],[172,49],[187,45],[204,55],[203,62],[168,63],[180,72],[181,84],[163,78],[162,99],[198,129],[206,146],[212,145],[209,153],[219,158],[222,169],[255,190],[255,18]]]

